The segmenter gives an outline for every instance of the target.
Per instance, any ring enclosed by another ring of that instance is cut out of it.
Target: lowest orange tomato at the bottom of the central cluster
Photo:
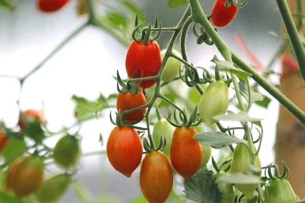
[[[166,155],[161,151],[146,154],[140,171],[140,187],[150,203],[163,203],[173,188],[173,173]]]

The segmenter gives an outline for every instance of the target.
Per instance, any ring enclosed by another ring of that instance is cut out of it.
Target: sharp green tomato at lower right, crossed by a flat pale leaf
[[[261,162],[259,157],[256,156],[255,164],[261,170]],[[249,171],[249,166],[251,165],[250,153],[247,146],[243,144],[238,144],[233,153],[233,158],[231,162],[231,174],[233,173],[243,173]],[[256,189],[256,184],[235,184],[235,186],[245,195],[250,198],[253,191]]]

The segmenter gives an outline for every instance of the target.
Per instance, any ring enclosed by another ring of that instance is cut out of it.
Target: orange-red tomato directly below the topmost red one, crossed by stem
[[[116,109],[120,110],[122,114],[125,110],[134,109],[146,105],[146,97],[140,90],[138,94],[132,94],[130,92],[118,93],[116,99]],[[125,118],[127,122],[136,122],[140,120],[146,114],[146,109],[140,109],[126,114]]]

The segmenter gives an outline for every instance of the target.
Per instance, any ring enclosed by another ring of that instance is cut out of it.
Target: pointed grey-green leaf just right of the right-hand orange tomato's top
[[[211,146],[214,149],[220,149],[233,143],[248,144],[246,140],[241,140],[235,136],[229,136],[223,132],[199,132],[194,137],[202,145]]]

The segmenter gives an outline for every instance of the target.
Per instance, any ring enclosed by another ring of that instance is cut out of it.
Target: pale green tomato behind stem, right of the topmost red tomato
[[[164,58],[165,52],[166,49],[163,49],[161,51],[162,59]],[[173,50],[173,54],[181,58],[181,54],[178,51]],[[173,57],[169,57],[165,64],[161,80],[163,80],[164,82],[170,82],[173,79],[175,79],[179,73],[180,65],[181,65],[180,61],[178,61]]]

